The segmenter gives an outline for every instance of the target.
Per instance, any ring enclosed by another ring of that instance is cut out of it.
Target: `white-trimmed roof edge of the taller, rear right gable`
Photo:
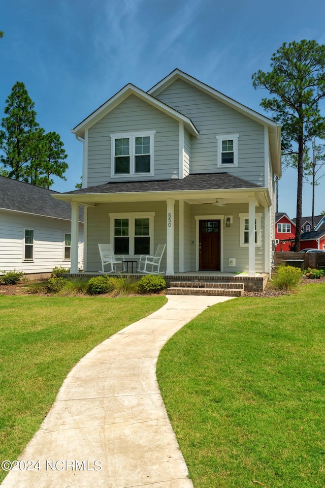
[[[154,85],[150,90],[148,90],[148,94],[156,97],[160,92],[162,92],[165,88],[167,88],[170,84],[172,84],[177,79],[182,79],[187,83],[190,83],[193,86],[196,86],[203,92],[207,93],[208,95],[214,97],[216,100],[224,103],[232,107],[233,109],[237,110],[238,112],[243,113],[247,117],[252,118],[259,124],[263,124],[269,128],[269,141],[270,141],[270,149],[273,161],[273,170],[277,176],[281,176],[281,129],[280,124],[277,124],[274,120],[262,115],[261,113],[255,112],[254,110],[246,107],[245,105],[236,102],[230,97],[223,95],[221,92],[218,92],[216,89],[212,88],[209,85],[206,85],[202,81],[193,78],[192,76],[184,73],[183,71],[176,68],[172,71],[169,75],[159,81],[156,85]]]

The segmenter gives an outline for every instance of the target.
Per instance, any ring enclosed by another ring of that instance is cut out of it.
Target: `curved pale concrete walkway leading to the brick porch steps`
[[[10,471],[3,488],[192,488],[155,366],[177,330],[230,298],[167,297],[78,362],[20,455],[26,466]]]

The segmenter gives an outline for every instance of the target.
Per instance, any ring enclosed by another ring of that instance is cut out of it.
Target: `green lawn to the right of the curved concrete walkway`
[[[230,300],[163,348],[158,383],[195,488],[325,486],[324,304],[324,285]]]

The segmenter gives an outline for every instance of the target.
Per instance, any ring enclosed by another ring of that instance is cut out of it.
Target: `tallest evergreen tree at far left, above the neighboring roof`
[[[34,102],[31,101],[24,83],[17,81],[6,100],[5,114],[0,131],[0,149],[5,156],[0,162],[14,179],[24,177],[24,167],[31,157],[30,135],[39,127]]]

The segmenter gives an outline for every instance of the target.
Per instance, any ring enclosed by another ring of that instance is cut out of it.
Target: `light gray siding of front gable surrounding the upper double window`
[[[156,131],[154,135],[154,177],[133,176],[134,180],[168,179],[179,171],[179,123],[152,105],[131,95],[88,131],[88,186],[111,179],[110,134]],[[120,176],[117,180],[129,180]]]

